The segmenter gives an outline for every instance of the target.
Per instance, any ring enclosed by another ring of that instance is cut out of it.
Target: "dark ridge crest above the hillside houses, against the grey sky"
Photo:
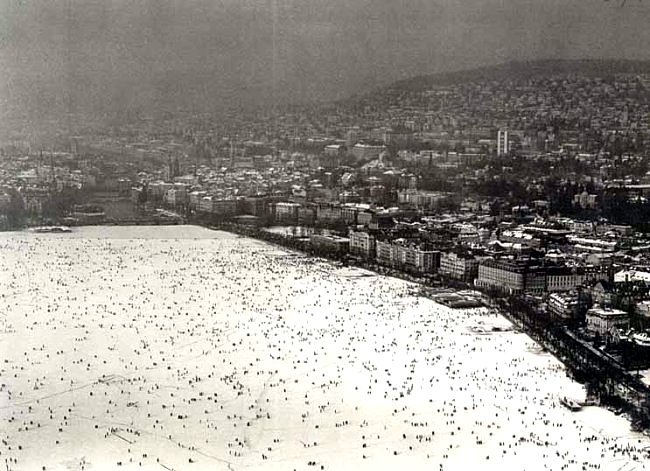
[[[552,75],[583,75],[607,77],[614,74],[650,74],[650,61],[627,59],[542,59],[457,70],[399,80],[383,90],[421,91],[434,85],[476,80],[528,79]]]

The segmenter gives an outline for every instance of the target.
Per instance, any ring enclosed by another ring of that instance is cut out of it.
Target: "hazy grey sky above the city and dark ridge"
[[[347,96],[529,58],[650,59],[650,0],[0,0],[0,104]]]

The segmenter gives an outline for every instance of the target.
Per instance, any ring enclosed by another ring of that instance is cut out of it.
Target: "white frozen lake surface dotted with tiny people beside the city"
[[[0,463],[650,467],[507,321],[411,287],[196,227],[1,234]]]

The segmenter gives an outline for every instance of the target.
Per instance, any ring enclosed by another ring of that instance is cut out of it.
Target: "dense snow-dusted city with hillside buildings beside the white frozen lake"
[[[588,401],[642,429],[649,117],[650,66],[611,61],[246,113],[17,113],[0,139],[0,227],[195,224],[416,281],[449,307],[502,310],[587,377]]]

